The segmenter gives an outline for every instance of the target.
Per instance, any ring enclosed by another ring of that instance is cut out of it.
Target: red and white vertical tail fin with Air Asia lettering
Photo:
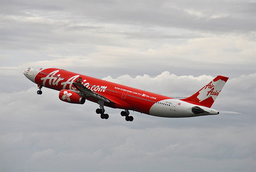
[[[223,88],[227,80],[228,77],[217,76],[195,94],[181,100],[210,108],[219,93],[221,92],[221,89]]]

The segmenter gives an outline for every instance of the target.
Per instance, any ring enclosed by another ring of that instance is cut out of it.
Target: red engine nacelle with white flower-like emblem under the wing
[[[72,104],[85,103],[85,98],[72,90],[61,90],[59,92],[59,99],[62,100],[63,102],[68,102]]]

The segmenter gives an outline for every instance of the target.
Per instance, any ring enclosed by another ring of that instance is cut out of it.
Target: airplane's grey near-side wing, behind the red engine
[[[94,98],[96,100],[103,100],[104,102],[110,103],[112,102],[111,100],[109,100],[108,98],[91,91],[90,89],[88,89],[87,87],[85,87],[82,83],[78,83],[78,82],[73,82],[72,83],[74,85],[74,87],[76,87],[76,89],[80,92],[82,92],[83,94],[86,95],[86,97],[90,97],[90,98]],[[112,102],[113,103],[113,102]]]

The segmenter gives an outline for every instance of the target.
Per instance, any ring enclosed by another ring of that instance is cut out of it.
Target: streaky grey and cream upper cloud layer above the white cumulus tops
[[[2,1],[2,67],[97,68],[97,78],[255,72],[252,2],[49,3]]]

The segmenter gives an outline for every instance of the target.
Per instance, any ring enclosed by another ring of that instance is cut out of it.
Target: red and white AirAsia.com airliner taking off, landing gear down
[[[225,76],[217,76],[192,96],[177,99],[54,67],[29,67],[23,74],[37,84],[37,94],[42,94],[41,89],[46,87],[59,91],[59,99],[64,102],[95,102],[99,105],[96,113],[102,119],[109,118],[104,106],[123,109],[121,116],[126,121],[134,120],[130,111],[167,118],[219,115],[211,106],[228,80]]]

